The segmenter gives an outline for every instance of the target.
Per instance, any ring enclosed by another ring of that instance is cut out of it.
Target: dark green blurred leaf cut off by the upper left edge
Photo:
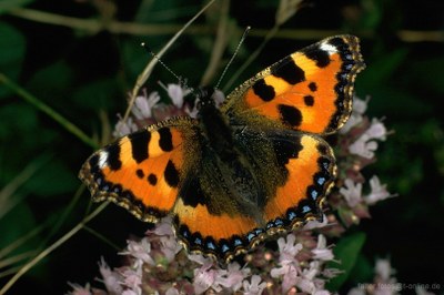
[[[24,59],[26,41],[16,28],[0,22],[0,72],[11,80],[19,78]],[[0,98],[9,91],[0,84]]]

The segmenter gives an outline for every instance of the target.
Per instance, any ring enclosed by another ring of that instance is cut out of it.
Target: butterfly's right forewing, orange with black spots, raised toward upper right
[[[332,133],[349,119],[353,83],[364,62],[359,40],[336,35],[294,52],[234,90],[222,106],[261,124]]]

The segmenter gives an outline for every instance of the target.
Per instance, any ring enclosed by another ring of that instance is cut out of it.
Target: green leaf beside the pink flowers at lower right
[[[349,278],[350,273],[360,255],[361,248],[364,245],[365,238],[365,233],[359,232],[344,236],[340,240],[340,242],[333,248],[333,253],[334,258],[341,263],[337,264],[335,262],[330,262],[326,267],[339,268],[343,271],[343,273],[332,278],[326,284],[326,289],[331,292],[337,292],[342,284]]]

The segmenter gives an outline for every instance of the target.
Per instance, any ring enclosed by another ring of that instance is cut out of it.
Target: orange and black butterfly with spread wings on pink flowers
[[[232,91],[199,92],[198,118],[145,126],[94,152],[79,177],[94,201],[155,223],[171,215],[191,252],[229,262],[264,238],[322,221],[336,165],[323,136],[347,121],[359,39],[296,51]]]

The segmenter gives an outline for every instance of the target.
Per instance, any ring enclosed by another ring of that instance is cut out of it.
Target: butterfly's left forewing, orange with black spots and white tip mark
[[[151,125],[92,154],[80,179],[93,200],[112,201],[147,222],[165,216],[185,174],[184,142],[191,122],[170,120]]]

